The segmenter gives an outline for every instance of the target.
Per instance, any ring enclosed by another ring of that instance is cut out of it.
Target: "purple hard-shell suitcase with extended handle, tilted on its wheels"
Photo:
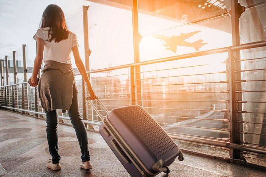
[[[97,97],[108,113],[103,118],[90,97],[86,99],[103,121],[99,128],[101,136],[132,177],[168,174],[168,166],[177,157],[184,160],[178,146],[143,107],[125,106],[109,112]]]

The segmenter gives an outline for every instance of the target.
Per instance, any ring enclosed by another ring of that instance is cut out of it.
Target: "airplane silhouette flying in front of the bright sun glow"
[[[208,43],[202,43],[203,40],[197,40],[193,43],[190,42],[186,42],[184,41],[187,38],[192,37],[194,34],[197,34],[201,31],[194,31],[191,33],[181,33],[180,36],[172,36],[172,37],[168,37],[168,36],[164,36],[164,35],[160,35],[160,34],[154,34],[152,35],[153,37],[160,39],[160,40],[164,40],[166,42],[166,44],[163,44],[167,50],[171,50],[172,52],[176,52],[177,46],[178,45],[182,45],[182,46],[187,46],[187,47],[194,47],[195,50],[199,50],[199,48],[201,48],[203,45],[208,44]]]

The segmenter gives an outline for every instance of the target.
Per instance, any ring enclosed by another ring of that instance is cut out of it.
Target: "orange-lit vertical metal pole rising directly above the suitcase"
[[[132,0],[132,25],[133,25],[133,45],[134,45],[134,63],[139,63],[139,43],[141,36],[139,34],[138,22],[138,0]],[[136,100],[142,100],[141,94],[141,80],[140,80],[140,66],[135,67],[135,86],[137,94]],[[142,106],[142,101],[137,101],[137,104]]]

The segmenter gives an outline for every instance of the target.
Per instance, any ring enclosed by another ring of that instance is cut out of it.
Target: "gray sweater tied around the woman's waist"
[[[46,61],[41,72],[38,92],[44,112],[69,110],[73,92],[78,92],[72,64]]]

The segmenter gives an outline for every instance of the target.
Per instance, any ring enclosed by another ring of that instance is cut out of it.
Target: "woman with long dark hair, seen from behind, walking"
[[[76,131],[82,154],[80,167],[86,170],[91,169],[88,137],[79,111],[78,90],[71,65],[71,51],[76,66],[88,86],[91,99],[96,99],[96,95],[80,59],[77,37],[68,30],[65,15],[59,6],[51,4],[46,7],[42,15],[41,28],[37,30],[33,38],[37,41],[37,56],[34,60],[31,86],[38,86],[41,106],[46,113],[46,133],[49,152],[52,156],[47,167],[52,170],[61,169],[58,154],[56,111],[61,109],[68,110],[71,123]],[[42,60],[44,60],[45,66],[38,81],[37,75]]]

